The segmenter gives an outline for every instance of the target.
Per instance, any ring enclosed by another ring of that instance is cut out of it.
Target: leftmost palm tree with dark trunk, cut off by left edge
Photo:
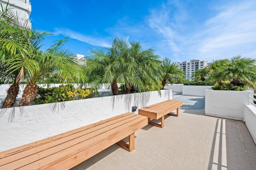
[[[39,33],[38,31],[29,28],[28,20],[20,22],[17,14],[14,14],[8,8],[8,4],[4,8],[1,4],[0,11],[0,74],[1,83],[12,82],[7,90],[7,96],[3,103],[3,108],[12,107],[19,93],[19,84],[22,81],[19,76],[22,76],[24,69],[28,64],[24,65],[20,70],[10,70],[6,66],[6,60],[13,56],[28,56],[29,51],[36,47],[42,41],[43,35],[47,33]],[[11,71],[7,73],[6,71]]]

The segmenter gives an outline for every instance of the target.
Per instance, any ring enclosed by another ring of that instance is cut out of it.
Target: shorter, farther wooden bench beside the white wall
[[[164,115],[172,115],[179,116],[179,107],[183,105],[182,101],[178,100],[166,100],[164,102],[160,102],[157,104],[153,104],[151,106],[143,107],[139,109],[139,115],[144,115],[148,117],[148,124],[154,125],[157,127],[164,127]],[[170,113],[171,111],[177,109],[177,113]],[[161,124],[154,123],[151,121],[152,119],[161,118]]]

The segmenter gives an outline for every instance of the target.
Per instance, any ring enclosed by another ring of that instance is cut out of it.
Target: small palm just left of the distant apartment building
[[[182,70],[178,68],[176,63],[171,63],[171,60],[165,57],[162,61],[161,64],[161,69],[162,69],[162,86],[167,84],[167,82],[173,82],[175,80],[177,81],[184,81],[185,79],[185,74]]]

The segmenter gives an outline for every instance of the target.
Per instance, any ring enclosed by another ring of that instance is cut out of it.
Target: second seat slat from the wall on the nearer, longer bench
[[[61,145],[63,143],[66,143],[67,141],[71,141],[74,139],[80,140],[81,137],[86,138],[87,136],[85,136],[85,135],[87,135],[91,132],[94,132],[94,133],[91,133],[90,135],[97,135],[98,133],[102,133],[102,131],[100,131],[100,130],[103,129],[104,127],[107,127],[107,126],[109,127],[110,125],[116,126],[117,124],[115,124],[115,123],[121,124],[124,121],[126,122],[126,121],[133,120],[134,118],[132,118],[132,117],[134,117],[134,116],[135,116],[134,114],[130,113],[130,114],[124,115],[123,117],[118,117],[117,119],[105,122],[103,124],[99,124],[97,126],[93,126],[89,129],[79,131],[77,133],[73,133],[72,135],[68,135],[68,136],[59,138],[58,140],[54,140],[49,143],[44,143],[44,145],[38,145],[38,146],[36,145],[35,147],[32,147],[32,148],[30,147],[29,149],[23,150],[22,152],[19,152],[12,156],[9,156],[8,158],[2,159],[2,160],[0,159],[0,165],[14,162],[16,159],[21,159],[24,156],[30,156],[32,154],[36,154],[38,152],[50,149],[52,147]]]

